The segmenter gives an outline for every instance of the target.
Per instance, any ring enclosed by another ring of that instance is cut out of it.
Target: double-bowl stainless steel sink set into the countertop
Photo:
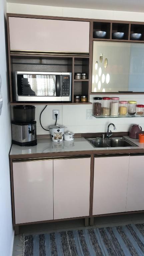
[[[102,140],[101,138],[88,138],[86,140],[96,148],[138,147],[138,145],[123,137],[109,138],[105,140]]]

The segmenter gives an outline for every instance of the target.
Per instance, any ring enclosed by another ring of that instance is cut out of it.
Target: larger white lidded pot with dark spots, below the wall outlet
[[[63,126],[63,125],[58,125],[58,124],[57,125],[51,125],[49,127],[49,130],[50,130],[52,141],[54,141],[54,142],[63,141],[65,128],[66,127]]]

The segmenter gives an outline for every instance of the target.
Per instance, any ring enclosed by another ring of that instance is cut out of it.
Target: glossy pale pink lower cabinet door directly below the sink
[[[93,215],[126,211],[129,156],[95,157]]]

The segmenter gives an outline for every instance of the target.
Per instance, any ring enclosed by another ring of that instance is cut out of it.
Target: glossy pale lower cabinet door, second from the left
[[[54,219],[89,216],[90,157],[55,159]]]

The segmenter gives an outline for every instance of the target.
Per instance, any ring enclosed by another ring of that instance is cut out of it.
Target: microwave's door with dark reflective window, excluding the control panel
[[[60,77],[51,74],[17,74],[16,100],[61,101]]]

